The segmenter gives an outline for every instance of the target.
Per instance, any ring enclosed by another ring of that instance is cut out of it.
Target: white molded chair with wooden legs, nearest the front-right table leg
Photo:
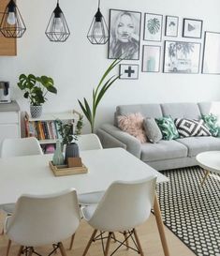
[[[113,236],[115,232],[121,232],[125,235],[125,241],[120,242],[118,248],[122,244],[130,248],[127,243],[128,238],[133,238],[134,236],[133,239],[136,241],[137,247],[135,250],[143,256],[135,227],[150,217],[154,204],[155,182],[156,177],[136,182],[113,182],[99,203],[82,207],[83,218],[95,229],[84,249],[83,256],[86,255],[92,242],[95,241],[97,231],[101,232],[101,236],[103,232],[109,233],[106,248],[104,249],[105,256],[109,252],[110,239],[113,237],[116,240]]]

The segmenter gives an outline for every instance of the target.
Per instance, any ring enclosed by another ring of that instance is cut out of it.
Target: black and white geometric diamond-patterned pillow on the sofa
[[[203,124],[203,120],[176,118],[175,126],[182,138],[192,136],[211,136],[209,129]]]

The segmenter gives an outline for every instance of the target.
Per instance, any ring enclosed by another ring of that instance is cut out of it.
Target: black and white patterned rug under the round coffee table
[[[220,256],[220,175],[201,186],[199,167],[162,173],[170,180],[157,187],[166,226],[196,255]]]

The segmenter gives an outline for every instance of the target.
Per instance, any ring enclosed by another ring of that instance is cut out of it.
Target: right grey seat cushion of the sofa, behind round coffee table
[[[220,150],[220,139],[209,137],[188,137],[177,139],[179,143],[188,148],[188,157],[196,157],[203,151]]]

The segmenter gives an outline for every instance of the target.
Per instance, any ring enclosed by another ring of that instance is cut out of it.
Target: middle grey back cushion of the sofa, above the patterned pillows
[[[197,103],[164,103],[161,104],[163,115],[170,115],[172,118],[200,119],[200,112]]]

